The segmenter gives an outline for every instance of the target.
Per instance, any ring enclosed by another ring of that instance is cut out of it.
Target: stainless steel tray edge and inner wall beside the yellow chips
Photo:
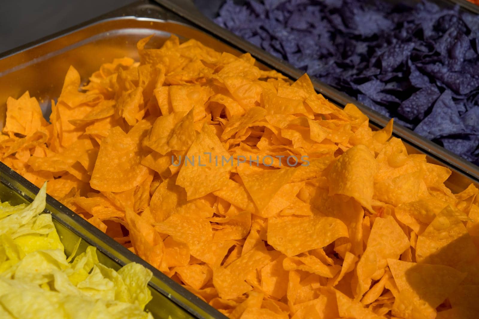
[[[12,205],[31,202],[38,190],[38,187],[0,163],[2,202],[8,201]],[[153,299],[146,309],[154,318],[167,319],[169,316],[173,319],[226,318],[50,196],[46,198],[45,212],[52,214],[55,228],[67,255],[73,252],[75,244],[81,239],[77,254],[92,245],[97,248],[100,263],[115,270],[130,262],[142,264],[150,269],[154,276],[148,288]]]

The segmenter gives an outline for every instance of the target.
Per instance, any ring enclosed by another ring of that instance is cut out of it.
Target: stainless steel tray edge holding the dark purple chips
[[[205,15],[203,15],[203,13],[198,11],[192,0],[155,1],[158,2],[163,8],[168,8],[171,11],[174,11],[178,15],[187,19],[190,23],[193,23],[196,27],[214,35],[219,40],[237,48],[239,51],[250,52],[251,55],[253,55],[260,63],[285,74],[291,79],[297,79],[304,73],[304,71],[295,68],[284,60],[267,53],[262,48],[259,48],[256,45],[240,38],[236,34],[221,28],[216,23],[208,19]],[[389,1],[409,3],[418,2],[418,0]],[[479,14],[479,7],[466,0],[435,0],[435,2],[443,6],[458,4],[461,6],[462,10]],[[369,117],[370,123],[373,127],[382,128],[388,123],[389,119],[387,117],[369,109],[357,100],[347,96],[335,88],[330,87],[324,82],[319,81],[315,77],[311,77],[311,80],[316,91],[323,94],[327,99],[333,103],[336,103],[338,106],[343,107],[347,103],[354,103]],[[408,152],[426,154],[430,163],[445,165],[450,168],[453,171],[453,175],[448,180],[447,186],[453,191],[461,190],[465,184],[470,182],[475,182],[476,184],[479,183],[479,166],[466,161],[460,156],[446,150],[444,147],[441,147],[423,138],[419,134],[400,124],[394,125],[393,134],[408,144]]]

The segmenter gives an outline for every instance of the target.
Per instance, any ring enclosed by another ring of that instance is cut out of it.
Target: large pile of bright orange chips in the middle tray
[[[232,319],[477,318],[476,187],[306,75],[148,40],[49,122],[10,98],[1,161]]]

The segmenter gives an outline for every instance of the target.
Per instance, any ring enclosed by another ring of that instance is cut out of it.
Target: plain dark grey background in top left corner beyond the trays
[[[0,0],[0,53],[135,0]]]

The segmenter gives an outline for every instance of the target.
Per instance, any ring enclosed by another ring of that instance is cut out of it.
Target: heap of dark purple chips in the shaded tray
[[[427,1],[243,2],[215,22],[479,165],[479,16]]]

